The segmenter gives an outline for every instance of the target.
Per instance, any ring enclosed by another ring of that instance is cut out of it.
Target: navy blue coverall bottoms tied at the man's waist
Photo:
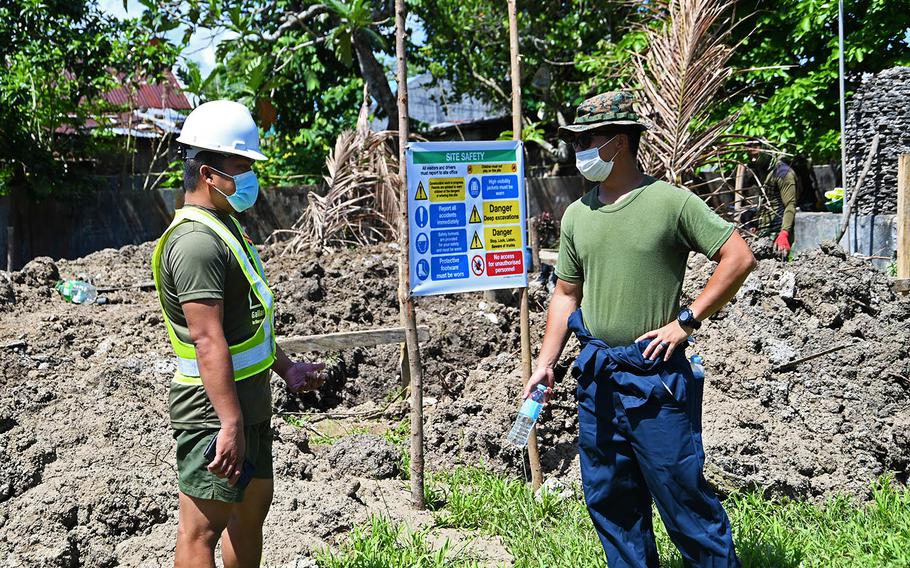
[[[684,352],[649,361],[648,342],[611,348],[578,335],[581,476],[610,568],[658,566],[652,500],[687,565],[738,567],[730,521],[703,475],[703,384]]]

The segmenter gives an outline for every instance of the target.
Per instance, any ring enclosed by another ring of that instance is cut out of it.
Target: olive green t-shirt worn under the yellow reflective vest
[[[195,207],[186,205],[185,207]],[[206,209],[218,217],[240,242],[227,215]],[[181,341],[190,343],[181,304],[192,300],[222,300],[223,327],[228,345],[253,335],[265,317],[265,309],[224,241],[204,224],[185,221],[174,228],[164,245],[161,259],[161,289],[164,311]],[[245,425],[269,420],[272,414],[271,371],[264,371],[234,384]],[[218,428],[215,408],[202,385],[171,382],[171,426],[178,430]]]

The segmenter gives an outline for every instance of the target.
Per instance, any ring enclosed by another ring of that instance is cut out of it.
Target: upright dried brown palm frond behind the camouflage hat
[[[732,0],[665,0],[660,27],[644,27],[650,48],[634,60],[640,111],[652,127],[643,139],[645,170],[675,185],[689,184],[697,168],[717,162],[736,144],[725,134],[737,115],[711,120],[732,74],[735,46]]]

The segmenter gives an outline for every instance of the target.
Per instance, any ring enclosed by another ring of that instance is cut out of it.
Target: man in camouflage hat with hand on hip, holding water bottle
[[[697,195],[639,171],[647,125],[633,103],[629,92],[598,95],[559,129],[594,185],[562,219],[556,289],[525,396],[539,384],[552,392],[574,332],[585,501],[611,568],[658,566],[652,502],[687,565],[739,566],[730,521],[703,475],[703,367],[685,349],[755,259]],[[680,309],[692,251],[718,265]]]

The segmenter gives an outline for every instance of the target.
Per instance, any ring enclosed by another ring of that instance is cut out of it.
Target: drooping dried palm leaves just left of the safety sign
[[[395,132],[373,132],[360,109],[355,130],[345,130],[326,157],[325,192],[309,203],[290,231],[285,252],[364,245],[398,237],[398,160],[388,144]],[[274,236],[274,235],[273,235]]]

